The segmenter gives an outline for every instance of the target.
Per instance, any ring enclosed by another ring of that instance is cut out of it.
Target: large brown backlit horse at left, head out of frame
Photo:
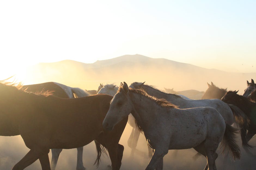
[[[24,169],[39,159],[42,170],[49,170],[49,149],[78,148],[96,140],[97,159],[108,150],[112,169],[120,169],[123,145],[118,144],[128,117],[113,131],[102,122],[112,96],[91,95],[59,98],[24,91],[22,85],[0,81],[0,135],[21,135],[30,151],[13,167]]]

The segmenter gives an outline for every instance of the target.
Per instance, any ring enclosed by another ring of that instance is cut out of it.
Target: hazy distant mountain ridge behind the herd
[[[231,73],[206,69],[195,65],[163,58],[150,58],[139,54],[124,55],[109,60],[87,64],[74,60],[39,63],[28,69],[25,84],[55,81],[69,86],[97,89],[100,83],[144,82],[163,89],[177,91],[195,89],[205,91],[207,82],[221,88],[240,90],[246,88],[246,80],[256,79],[256,73]]]

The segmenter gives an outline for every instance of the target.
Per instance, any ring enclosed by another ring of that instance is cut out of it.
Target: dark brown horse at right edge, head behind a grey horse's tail
[[[256,103],[249,101],[246,97],[237,94],[238,91],[228,91],[222,101],[239,107],[250,120],[245,124],[241,131],[242,145],[248,152],[248,148],[252,147],[248,144],[249,140],[256,134]],[[247,134],[246,131],[248,130]]]

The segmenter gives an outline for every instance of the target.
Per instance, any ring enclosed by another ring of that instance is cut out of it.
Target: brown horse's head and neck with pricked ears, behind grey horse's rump
[[[207,83],[208,89],[205,91],[205,94],[202,96],[202,99],[220,99],[225,95],[227,92],[227,88],[219,88],[211,82],[211,85]]]

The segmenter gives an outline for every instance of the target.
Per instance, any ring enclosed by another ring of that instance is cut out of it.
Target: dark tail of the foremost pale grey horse
[[[234,128],[226,123],[225,133],[221,142],[223,152],[229,152],[234,160],[240,159],[241,151],[237,145],[236,134],[238,133],[237,128]]]

